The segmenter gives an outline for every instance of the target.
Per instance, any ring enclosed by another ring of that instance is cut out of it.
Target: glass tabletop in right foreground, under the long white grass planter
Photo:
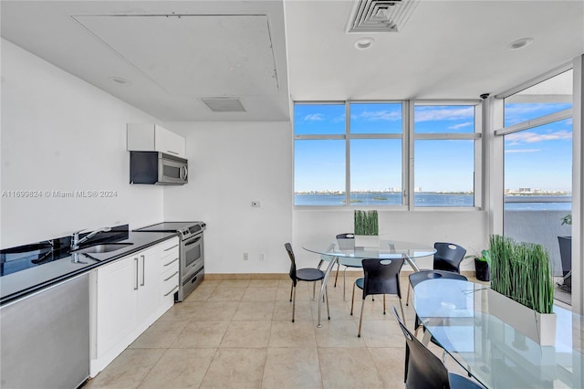
[[[488,286],[428,279],[413,289],[413,308],[454,360],[488,388],[584,387],[578,314],[554,306],[556,342],[542,346],[495,316]]]

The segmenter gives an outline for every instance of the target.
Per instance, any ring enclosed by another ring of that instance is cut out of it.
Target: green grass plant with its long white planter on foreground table
[[[496,235],[490,244],[489,310],[534,341],[553,345],[554,279],[547,250]]]

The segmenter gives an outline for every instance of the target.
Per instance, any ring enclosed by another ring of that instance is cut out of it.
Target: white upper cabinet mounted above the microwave
[[[165,152],[186,158],[186,142],[158,124],[128,123],[128,151]]]

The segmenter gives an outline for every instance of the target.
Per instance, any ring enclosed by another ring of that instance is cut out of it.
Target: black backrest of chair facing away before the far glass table
[[[397,294],[401,298],[400,270],[403,258],[363,259],[363,299],[370,294]]]

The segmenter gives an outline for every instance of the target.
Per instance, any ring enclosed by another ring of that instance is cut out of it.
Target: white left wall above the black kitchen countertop
[[[0,247],[75,229],[162,220],[162,188],[130,186],[126,122],[141,110],[2,39]],[[115,75],[112,75],[115,76]],[[40,198],[9,197],[40,191]],[[54,198],[46,191],[115,191],[111,198]]]

